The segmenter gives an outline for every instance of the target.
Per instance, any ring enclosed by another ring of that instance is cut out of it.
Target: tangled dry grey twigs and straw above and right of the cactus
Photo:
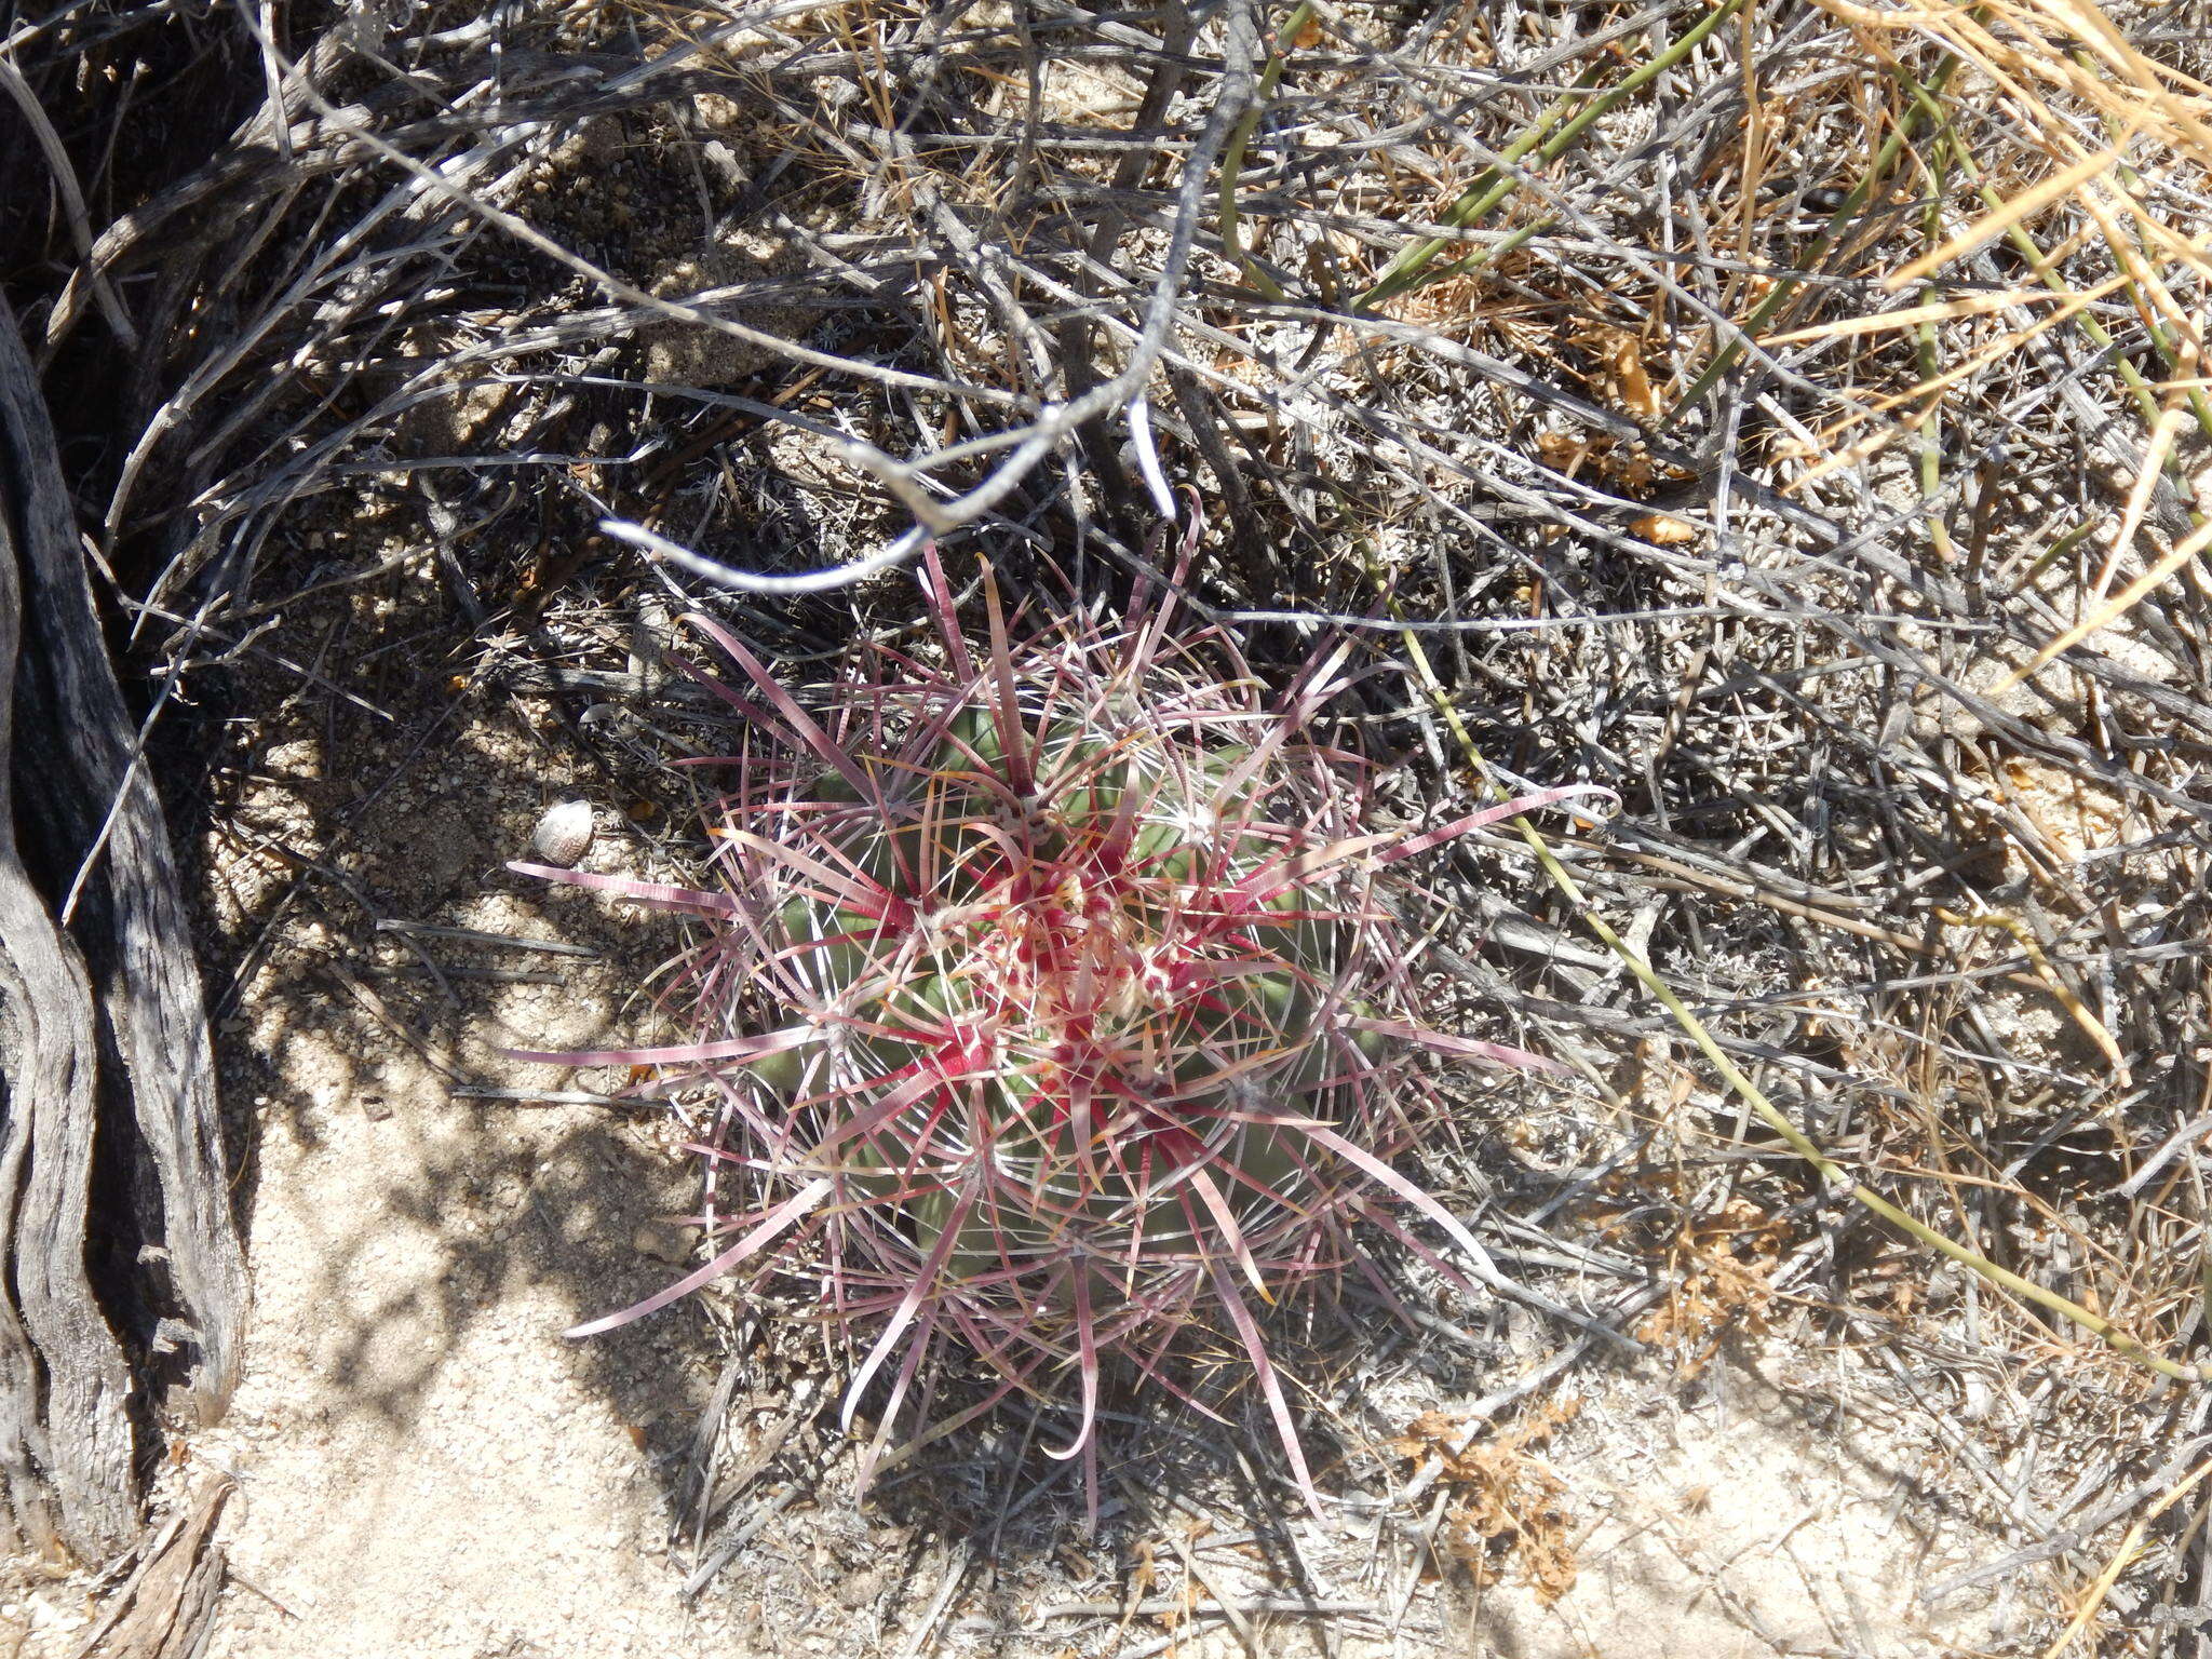
[[[1692,1371],[1730,1327],[1863,1345],[2022,1537],[1993,1571],[2157,1646],[2212,1595],[2170,1498],[2205,1396],[2128,1358],[2203,1340],[2203,29],[73,4],[9,38],[69,184],[0,186],[44,226],[7,276],[155,728],[252,655],[367,719],[285,619],[394,573],[456,706],[635,714],[637,630],[692,608],[894,648],[914,586],[867,577],[927,533],[1040,606],[1179,586],[1261,672],[1343,630],[1332,741],[1405,763],[1409,823],[1613,792],[1548,876],[1502,825],[1436,854],[1425,995],[1582,1077],[1509,1113],[1515,1261]]]

